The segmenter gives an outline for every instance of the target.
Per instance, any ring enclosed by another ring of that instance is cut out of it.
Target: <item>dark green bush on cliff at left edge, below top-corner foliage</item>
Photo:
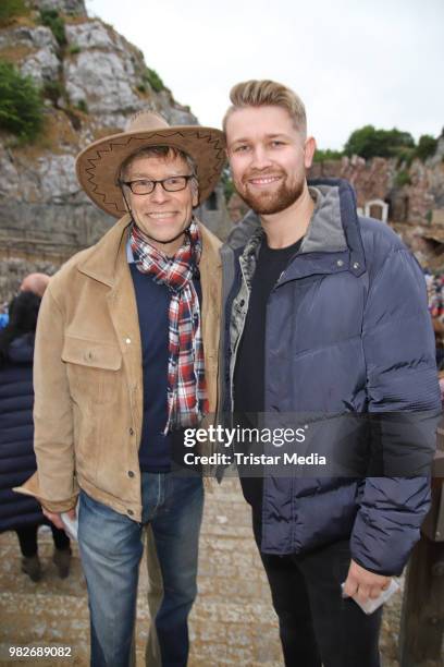
[[[0,128],[21,142],[34,141],[44,125],[44,101],[30,76],[0,60]]]

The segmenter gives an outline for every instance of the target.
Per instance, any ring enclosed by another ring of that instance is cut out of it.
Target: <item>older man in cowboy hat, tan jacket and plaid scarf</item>
[[[94,666],[130,664],[145,526],[162,583],[147,664],[187,663],[202,482],[175,476],[172,461],[184,428],[215,405],[219,242],[193,209],[223,162],[221,132],[171,128],[152,112],[77,158],[87,195],[121,219],[45,294],[35,355],[38,476],[25,490],[59,526],[79,493]],[[149,574],[159,589],[157,571]]]

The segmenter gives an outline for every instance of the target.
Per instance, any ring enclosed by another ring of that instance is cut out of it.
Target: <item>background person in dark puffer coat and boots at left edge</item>
[[[9,324],[0,331],[0,532],[15,531],[22,553],[22,571],[33,581],[42,574],[37,531],[50,523],[39,504],[16,494],[36,470],[33,449],[33,355],[40,296],[21,292],[10,305]],[[70,539],[50,523],[54,541],[53,561],[61,578],[70,572]]]

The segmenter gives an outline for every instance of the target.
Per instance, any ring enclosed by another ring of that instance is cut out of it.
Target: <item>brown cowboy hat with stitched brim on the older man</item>
[[[125,132],[90,144],[76,160],[78,181],[97,206],[115,218],[126,213],[118,183],[122,163],[139,148],[172,146],[189,155],[197,166],[199,204],[214,190],[225,162],[225,140],[220,130],[200,125],[172,128],[158,113],[140,111]]]

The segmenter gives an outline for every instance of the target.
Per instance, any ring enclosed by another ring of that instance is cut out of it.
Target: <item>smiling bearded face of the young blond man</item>
[[[278,106],[235,109],[225,131],[234,185],[248,206],[260,215],[292,206],[304,192],[314,140],[304,140]]]

